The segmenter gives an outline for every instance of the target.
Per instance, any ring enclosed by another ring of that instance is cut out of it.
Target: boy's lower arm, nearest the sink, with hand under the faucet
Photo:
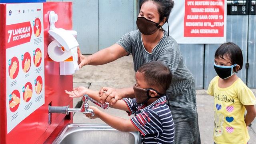
[[[123,118],[119,118],[116,116],[111,116],[110,114],[107,114],[105,112],[100,111],[98,108],[94,107],[94,106],[90,106],[89,108],[94,110],[94,117],[91,117],[90,115],[86,115],[89,118],[100,118],[101,120],[103,120],[104,122],[106,122],[106,124],[108,124],[109,126],[111,126],[112,128],[119,130],[121,132],[136,132],[138,131],[138,129],[136,129],[134,127],[134,125],[132,124],[132,122],[130,120],[126,120]]]

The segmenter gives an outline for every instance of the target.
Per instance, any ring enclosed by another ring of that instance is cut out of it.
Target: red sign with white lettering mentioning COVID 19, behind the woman
[[[185,0],[184,37],[223,37],[224,0]]]

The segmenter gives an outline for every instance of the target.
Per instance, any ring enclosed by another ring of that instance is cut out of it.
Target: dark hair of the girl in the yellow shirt
[[[233,42],[226,42],[216,50],[214,58],[222,58],[224,59],[224,56],[227,58],[230,58],[230,61],[233,64],[238,64],[239,70],[242,70],[243,67],[243,54],[242,50],[239,48],[238,45],[234,44]],[[236,69],[234,68],[234,71]]]

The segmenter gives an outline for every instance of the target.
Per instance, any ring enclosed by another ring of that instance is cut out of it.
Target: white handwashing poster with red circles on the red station
[[[43,4],[6,4],[7,133],[44,104]]]

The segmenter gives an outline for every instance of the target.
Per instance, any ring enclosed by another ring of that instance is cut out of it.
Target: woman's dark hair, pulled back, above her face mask
[[[149,0],[142,0],[140,2],[140,8],[142,4],[144,4],[144,2],[147,2],[147,1]],[[165,22],[167,22],[170,16],[170,12],[174,6],[174,1],[173,0],[150,0],[150,1],[157,4],[158,13],[160,15],[160,21],[164,20],[164,17],[166,17]]]

